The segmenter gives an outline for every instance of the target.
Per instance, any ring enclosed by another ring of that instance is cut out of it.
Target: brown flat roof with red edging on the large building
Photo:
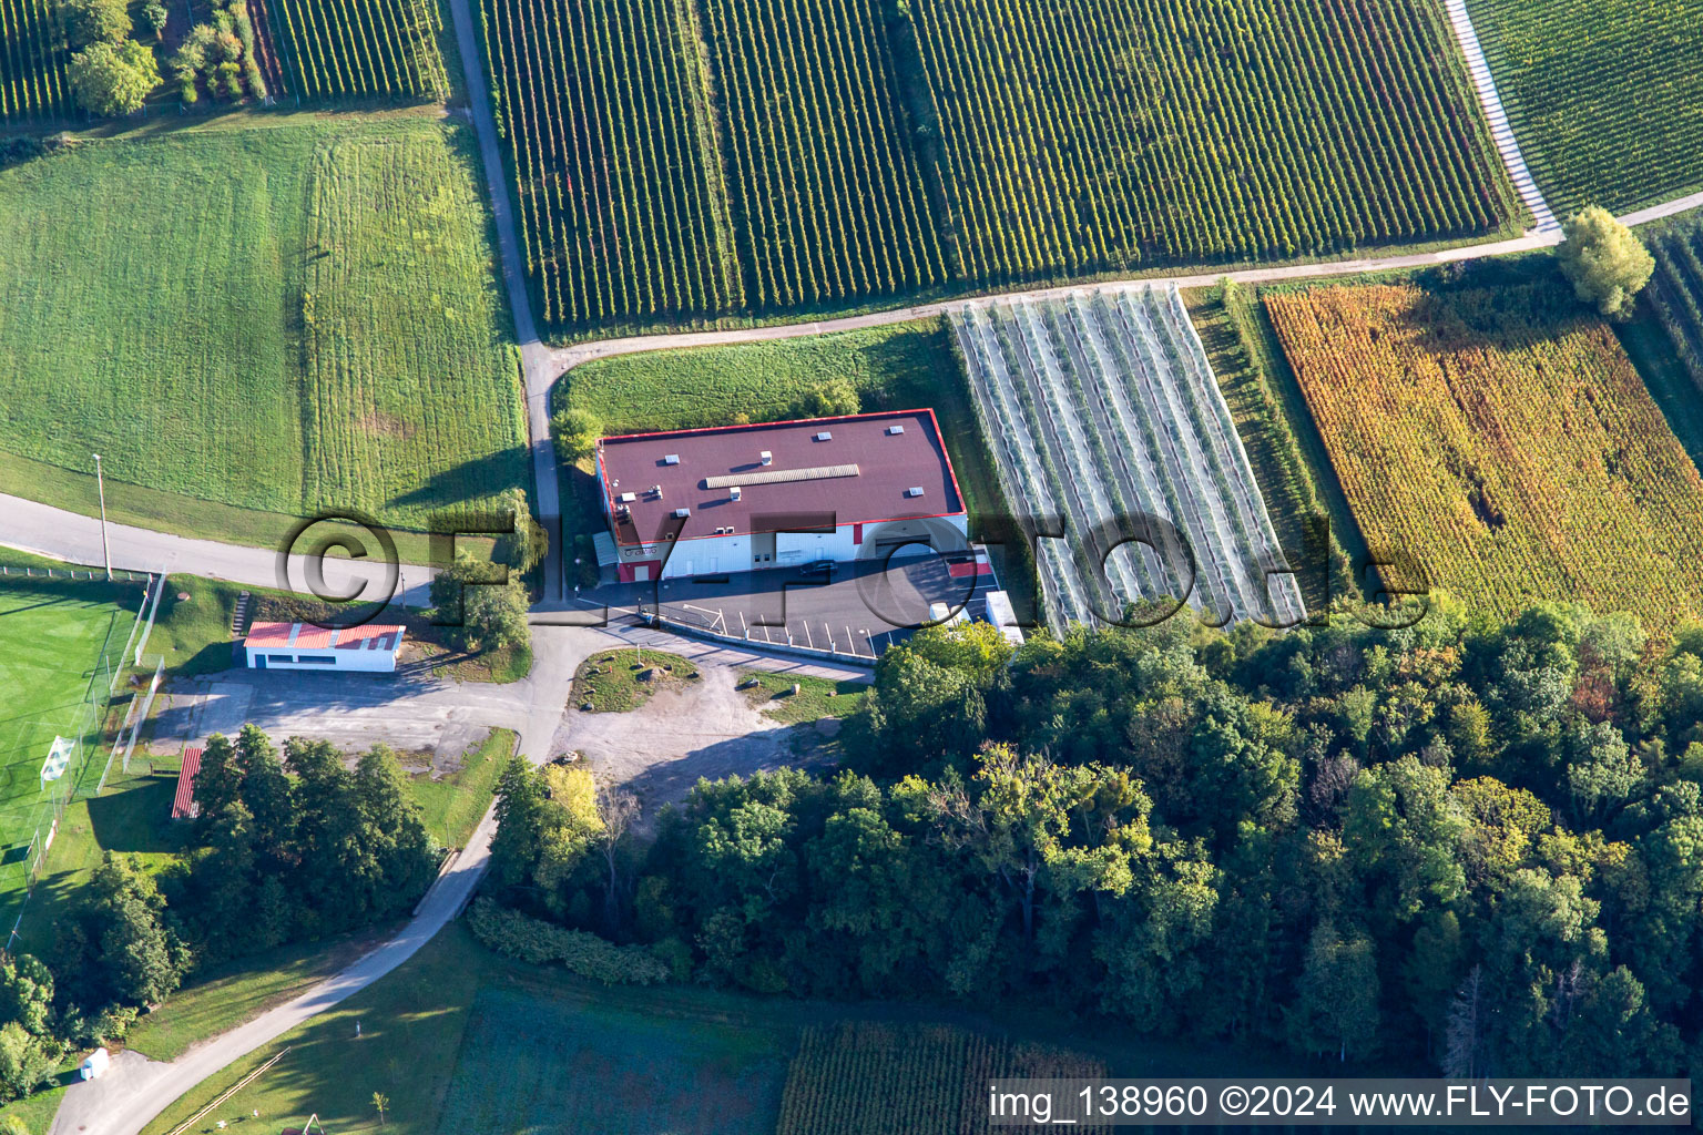
[[[729,526],[736,534],[797,529],[807,516],[874,524],[964,510],[933,410],[603,437],[598,471],[610,516],[628,509],[613,524],[622,545],[654,543],[679,526],[679,539],[693,539]],[[911,488],[923,493],[906,495]],[[679,519],[676,509],[691,516]]]

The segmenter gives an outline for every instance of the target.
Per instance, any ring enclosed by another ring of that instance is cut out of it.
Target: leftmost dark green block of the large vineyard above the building
[[[482,0],[480,12],[540,318],[741,306],[690,9]]]

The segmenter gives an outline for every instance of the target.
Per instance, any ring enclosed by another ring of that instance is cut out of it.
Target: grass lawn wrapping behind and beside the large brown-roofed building
[[[785,417],[802,393],[833,378],[850,381],[869,412],[933,408],[971,516],[971,536],[996,545],[995,570],[1018,619],[1032,613],[1034,562],[1010,522],[943,320],[598,359],[557,383],[555,403],[596,414],[610,434],[732,425]],[[591,533],[605,522],[589,463],[562,470],[562,514],[569,555],[591,562]]]

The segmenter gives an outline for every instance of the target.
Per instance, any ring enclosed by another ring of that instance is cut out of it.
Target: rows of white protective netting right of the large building
[[[952,325],[1054,630],[1139,601],[1211,625],[1306,618],[1175,288],[989,299]]]

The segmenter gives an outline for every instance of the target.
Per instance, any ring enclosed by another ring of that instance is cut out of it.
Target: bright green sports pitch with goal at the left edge
[[[102,582],[0,580],[0,934],[12,929],[29,868],[46,839],[54,803],[104,764],[102,710],[111,665],[124,650],[135,589]],[[54,737],[77,744],[63,776],[43,786]]]

